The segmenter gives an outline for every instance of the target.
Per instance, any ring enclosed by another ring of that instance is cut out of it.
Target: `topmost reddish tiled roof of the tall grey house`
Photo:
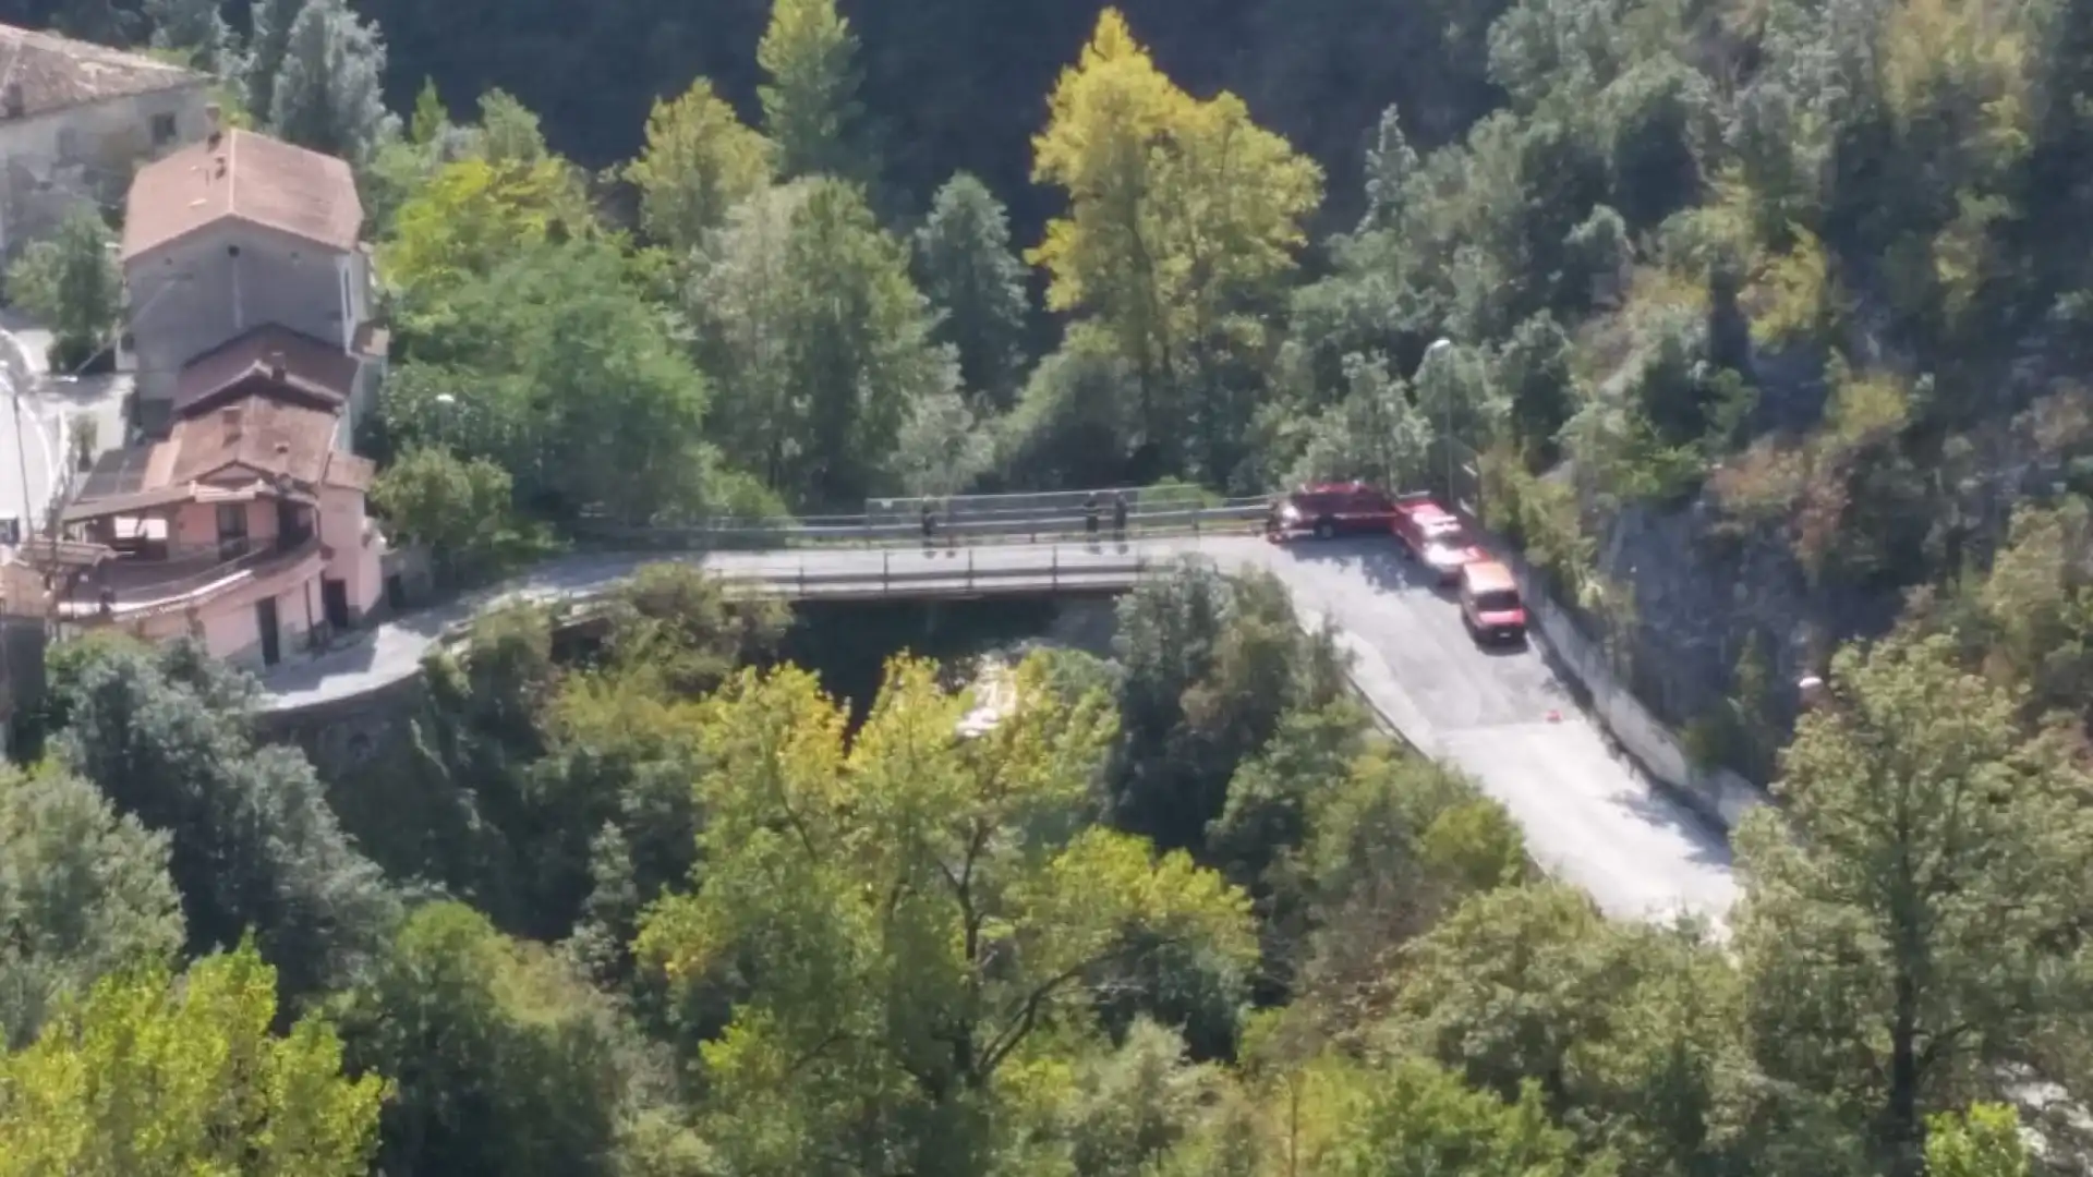
[[[123,260],[226,218],[347,253],[364,205],[341,159],[228,130],[138,170],[123,216]]]

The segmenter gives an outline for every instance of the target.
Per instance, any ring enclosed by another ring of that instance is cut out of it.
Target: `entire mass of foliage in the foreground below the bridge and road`
[[[65,1076],[0,1085],[6,1156],[220,1125],[155,1068],[228,1049],[283,1076],[144,1171],[2020,1175],[2003,1079],[2093,1079],[2093,781],[1965,622],[1840,658],[1725,947],[1538,878],[1275,582],[1118,614],[980,695],[896,660],[856,723],[657,565],[567,637],[486,616],[333,806],[234,674],[67,647],[0,792],[0,1076]]]

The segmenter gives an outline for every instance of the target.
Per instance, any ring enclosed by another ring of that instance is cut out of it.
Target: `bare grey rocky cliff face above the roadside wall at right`
[[[1800,446],[1825,413],[1823,383],[1796,377],[1760,371],[1771,390],[1760,404],[1766,446]],[[1758,639],[1769,689],[1754,706],[1785,739],[1798,679],[1821,672],[1831,649],[1888,630],[1911,588],[1986,565],[2016,505],[2093,488],[2093,394],[2024,364],[2003,381],[1999,408],[1961,434],[1900,436],[1850,457],[1833,471],[1833,530],[1815,553],[1806,532],[1821,503],[1808,490],[1781,511],[1741,517],[1725,498],[1723,467],[1683,507],[1635,505],[1597,519],[1599,574],[1628,605],[1612,620],[1580,620],[1610,639],[1637,697],[1681,729],[1733,706],[1735,668]]]

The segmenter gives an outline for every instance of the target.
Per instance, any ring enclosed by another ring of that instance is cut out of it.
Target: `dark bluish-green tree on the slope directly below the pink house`
[[[69,672],[61,762],[172,848],[193,955],[249,932],[303,997],[356,976],[396,898],[295,748],[257,748],[255,685],[190,643],[105,643]]]

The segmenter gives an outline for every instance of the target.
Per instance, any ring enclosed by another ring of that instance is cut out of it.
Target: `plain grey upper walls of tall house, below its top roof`
[[[165,423],[174,381],[197,356],[274,323],[347,350],[370,316],[370,270],[362,251],[341,253],[245,222],[134,258],[130,299],[138,402],[149,429]]]

